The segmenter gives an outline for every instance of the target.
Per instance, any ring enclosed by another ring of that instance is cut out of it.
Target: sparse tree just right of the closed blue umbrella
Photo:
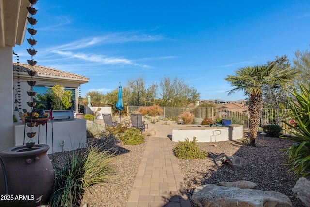
[[[131,89],[130,96],[128,97],[128,105],[138,106],[138,89],[140,106],[151,106],[154,104],[154,99],[157,95],[157,84],[153,83],[147,86],[144,78],[140,77],[136,80],[128,80],[128,86]]]

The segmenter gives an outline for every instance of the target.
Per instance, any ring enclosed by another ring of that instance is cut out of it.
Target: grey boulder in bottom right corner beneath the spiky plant
[[[292,191],[297,194],[297,197],[304,202],[307,207],[310,207],[310,181],[304,177],[299,178]]]

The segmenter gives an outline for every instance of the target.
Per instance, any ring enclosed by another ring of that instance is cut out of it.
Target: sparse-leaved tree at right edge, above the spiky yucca
[[[299,50],[295,52],[293,68],[299,72],[295,85],[299,83],[307,85],[310,77],[310,51],[308,49],[304,52]]]

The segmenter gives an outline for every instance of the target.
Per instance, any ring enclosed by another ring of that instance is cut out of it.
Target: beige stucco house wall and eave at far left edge
[[[0,1],[0,151],[14,146],[13,47],[24,41],[28,0]]]

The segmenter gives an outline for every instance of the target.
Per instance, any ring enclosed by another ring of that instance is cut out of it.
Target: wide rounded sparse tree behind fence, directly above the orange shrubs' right
[[[171,80],[170,77],[165,77],[160,84],[160,106],[188,106],[190,103],[195,103],[200,98],[200,93],[197,89],[190,87],[183,79]]]

